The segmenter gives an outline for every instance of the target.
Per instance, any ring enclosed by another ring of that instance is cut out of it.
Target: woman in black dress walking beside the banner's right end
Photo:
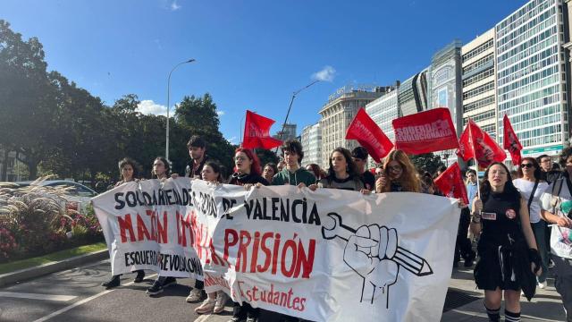
[[[491,321],[500,321],[504,291],[505,321],[520,321],[520,290],[529,301],[534,296],[534,274],[542,273],[542,259],[526,201],[501,162],[492,163],[484,172],[480,198],[473,202],[473,215],[471,230],[481,233],[475,283],[484,290],[486,313]]]

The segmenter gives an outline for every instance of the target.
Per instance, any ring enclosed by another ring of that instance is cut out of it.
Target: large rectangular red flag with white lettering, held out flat
[[[395,130],[395,148],[409,154],[458,148],[457,134],[449,108],[433,108],[400,117],[391,123]]]

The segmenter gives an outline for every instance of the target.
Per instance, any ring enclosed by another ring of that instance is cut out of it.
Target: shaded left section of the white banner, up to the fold
[[[150,269],[203,279],[193,247],[189,179],[128,182],[92,199],[105,235],[112,274]]]

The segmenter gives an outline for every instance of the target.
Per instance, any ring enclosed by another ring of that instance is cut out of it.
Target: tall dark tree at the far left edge
[[[38,38],[23,41],[0,20],[0,145],[18,153],[32,179],[38,164],[55,150],[54,97]]]

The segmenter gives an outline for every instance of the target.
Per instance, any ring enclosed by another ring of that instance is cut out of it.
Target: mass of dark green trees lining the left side
[[[128,94],[105,106],[59,72],[47,72],[38,38],[25,41],[0,20],[0,162],[16,151],[30,179],[39,169],[95,182],[119,179],[117,162],[132,157],[148,178],[153,160],[164,157],[166,119],[139,113],[139,104],[137,95]],[[185,97],[171,121],[175,172],[189,160],[186,143],[193,134],[206,140],[209,157],[231,168],[233,148],[219,131],[213,97]]]

